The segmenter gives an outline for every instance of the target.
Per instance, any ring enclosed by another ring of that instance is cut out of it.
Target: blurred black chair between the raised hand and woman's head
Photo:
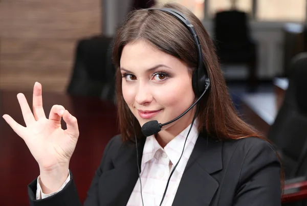
[[[77,43],[75,62],[67,92],[76,96],[115,99],[113,38],[94,36]]]

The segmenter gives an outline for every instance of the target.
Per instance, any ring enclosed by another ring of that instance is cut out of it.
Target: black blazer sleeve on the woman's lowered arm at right
[[[280,162],[273,146],[258,141],[245,155],[234,206],[280,206]]]

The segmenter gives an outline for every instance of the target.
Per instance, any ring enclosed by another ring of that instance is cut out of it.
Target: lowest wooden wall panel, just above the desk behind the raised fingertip
[[[70,77],[71,61],[0,61],[0,88],[32,90],[35,81],[44,91],[64,92]]]

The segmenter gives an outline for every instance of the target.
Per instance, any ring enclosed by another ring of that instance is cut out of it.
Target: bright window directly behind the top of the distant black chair
[[[271,1],[271,0],[267,0]],[[252,11],[252,0],[237,0],[236,8],[240,11],[245,11],[246,13],[250,13]],[[216,12],[230,10],[231,9],[231,1],[230,0],[209,0],[208,1],[208,13],[209,17],[213,18]]]

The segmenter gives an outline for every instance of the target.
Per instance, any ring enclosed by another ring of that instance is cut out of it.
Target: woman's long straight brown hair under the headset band
[[[164,8],[173,8],[182,12],[194,26],[202,45],[203,61],[211,80],[211,87],[200,101],[199,130],[206,131],[210,136],[218,139],[239,139],[247,136],[263,139],[238,117],[215,54],[213,42],[202,22],[191,11],[179,4],[166,4]],[[117,68],[118,115],[123,141],[129,141],[132,135],[134,136],[134,115],[122,95],[120,57],[124,45],[138,40],[149,42],[159,50],[186,62],[191,68],[197,66],[194,40],[190,31],[179,20],[159,10],[135,10],[128,14],[126,21],[117,31],[113,49],[113,61]],[[142,138],[141,126],[137,121],[135,128],[137,136]]]

